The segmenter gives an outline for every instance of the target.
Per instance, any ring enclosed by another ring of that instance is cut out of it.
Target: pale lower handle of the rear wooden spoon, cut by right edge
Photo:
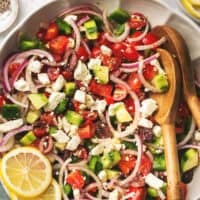
[[[200,129],[200,102],[197,96],[185,96],[192,116],[195,119],[197,127]]]

